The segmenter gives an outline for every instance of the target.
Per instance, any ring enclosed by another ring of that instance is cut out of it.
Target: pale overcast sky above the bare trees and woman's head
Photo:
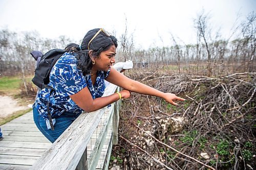
[[[136,47],[169,45],[172,33],[184,43],[196,42],[193,19],[204,9],[211,27],[228,36],[240,20],[256,12],[256,0],[0,0],[0,29],[36,30],[41,37],[65,35],[76,43],[91,29],[134,33]],[[160,40],[162,38],[162,41]]]

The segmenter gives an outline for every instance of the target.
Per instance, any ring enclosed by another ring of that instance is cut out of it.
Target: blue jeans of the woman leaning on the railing
[[[80,113],[81,114],[81,113]],[[34,122],[37,128],[49,139],[52,143],[74,122],[80,115],[72,112],[64,112],[59,117],[55,117],[54,131],[47,129],[46,120],[39,115],[38,109],[33,105]]]

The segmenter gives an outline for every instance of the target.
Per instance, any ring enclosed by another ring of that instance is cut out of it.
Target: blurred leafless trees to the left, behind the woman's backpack
[[[8,29],[0,30],[0,74],[33,74],[36,66],[32,51],[43,54],[53,48],[64,48],[72,42],[70,38],[41,38],[37,32],[16,33]]]

